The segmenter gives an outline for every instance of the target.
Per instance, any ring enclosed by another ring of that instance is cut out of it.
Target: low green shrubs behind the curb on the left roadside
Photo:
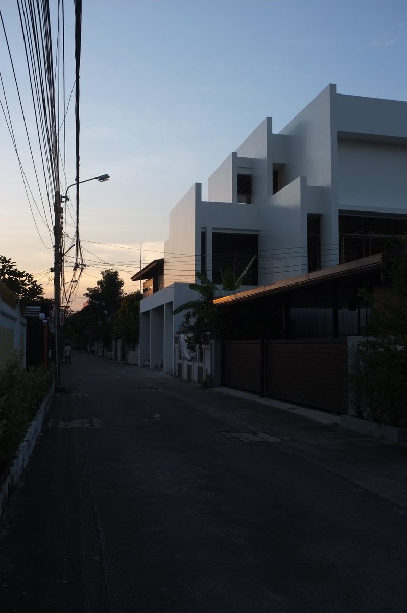
[[[0,371],[0,470],[23,441],[52,381],[53,375],[42,366],[23,370],[18,352]]]

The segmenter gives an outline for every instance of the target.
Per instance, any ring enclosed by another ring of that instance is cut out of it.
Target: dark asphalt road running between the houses
[[[407,611],[407,509],[348,451],[320,461],[352,440],[88,354],[63,376],[0,537],[2,613]]]

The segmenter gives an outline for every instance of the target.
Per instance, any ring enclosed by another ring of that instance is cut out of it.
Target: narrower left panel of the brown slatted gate
[[[222,343],[222,384],[260,392],[260,341]]]

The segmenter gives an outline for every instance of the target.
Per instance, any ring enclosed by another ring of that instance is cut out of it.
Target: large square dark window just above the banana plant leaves
[[[229,234],[214,232],[212,235],[212,280],[213,283],[221,283],[221,268],[230,268],[238,278],[245,270],[254,255],[258,255],[257,234]],[[257,285],[259,282],[257,259],[251,268],[243,284]]]

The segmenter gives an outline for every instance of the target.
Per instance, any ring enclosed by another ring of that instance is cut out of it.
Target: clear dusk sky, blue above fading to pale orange
[[[67,100],[75,81],[74,0],[64,4]],[[0,23],[0,101],[32,192],[0,109],[0,255],[53,297],[50,200],[34,172],[41,162],[18,2],[0,1],[0,11],[34,158]],[[54,14],[51,28],[56,48]],[[139,289],[131,276],[163,257],[170,210],[194,183],[202,183],[205,200],[208,177],[266,116],[279,132],[329,83],[341,94],[406,100],[406,59],[405,1],[83,0],[80,180],[103,173],[110,180],[80,186],[86,268],[70,306],[82,308],[83,292],[106,268],[119,271],[124,292]],[[59,132],[62,192],[75,181],[74,121],[71,100]],[[74,188],[69,196],[70,207]],[[68,208],[69,236],[74,217]],[[71,278],[72,259],[67,284]]]

